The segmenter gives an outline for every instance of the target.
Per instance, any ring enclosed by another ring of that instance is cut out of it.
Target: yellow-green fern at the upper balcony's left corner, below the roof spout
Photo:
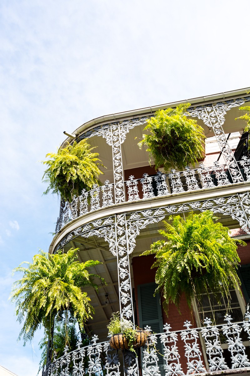
[[[71,202],[73,196],[79,196],[83,189],[89,191],[94,184],[100,185],[99,175],[103,172],[98,166],[103,166],[99,153],[93,153],[87,139],[68,144],[57,153],[48,153],[47,161],[42,161],[48,168],[43,175],[43,181],[48,183],[44,194],[57,193],[66,201]]]

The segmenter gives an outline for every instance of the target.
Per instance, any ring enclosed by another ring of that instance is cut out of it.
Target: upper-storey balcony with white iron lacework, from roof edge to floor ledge
[[[88,138],[91,146],[97,147],[106,167],[102,168],[104,175],[100,176],[103,185],[82,192],[70,204],[61,202],[51,252],[69,231],[93,219],[249,191],[249,155],[242,153],[246,145],[240,140],[246,124],[235,121],[242,115],[239,106],[250,104],[246,92],[244,89],[181,101],[191,103],[190,116],[202,126],[206,136],[205,159],[185,171],[157,173],[154,166],[149,165],[146,147],[142,150],[138,147],[145,133],[146,119],[157,109],[174,107],[181,102],[108,115],[76,129],[73,132],[76,141]],[[72,138],[66,141],[72,142]]]

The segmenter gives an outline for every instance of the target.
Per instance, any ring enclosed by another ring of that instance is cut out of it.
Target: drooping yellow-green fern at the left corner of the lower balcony
[[[53,255],[40,250],[33,257],[33,263],[24,262],[13,272],[21,272],[22,278],[14,282],[10,299],[15,303],[17,320],[23,327],[18,339],[24,345],[32,341],[34,333],[42,325],[48,338],[48,356],[52,359],[54,321],[57,315],[68,311],[78,321],[82,330],[94,313],[90,297],[82,288],[93,287],[98,291],[94,279],[105,280],[98,274],[88,271],[100,264],[99,261],[79,262],[77,251],[71,248],[67,253],[61,250]]]

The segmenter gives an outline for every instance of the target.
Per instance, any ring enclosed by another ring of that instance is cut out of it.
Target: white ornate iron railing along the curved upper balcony
[[[239,162],[242,167],[244,180],[250,180],[250,159],[243,157]],[[214,162],[212,167],[200,164],[199,168],[177,172],[172,170],[169,174],[158,172],[154,176],[144,174],[141,179],[130,176],[124,182],[126,201],[132,202],[140,199],[168,196],[185,191],[198,191],[204,188],[226,186],[232,183],[232,178],[225,165]],[[57,220],[55,233],[67,223],[81,215],[106,208],[115,204],[114,183],[105,181],[102,186],[94,186],[88,192],[82,191],[81,196],[74,197],[71,203],[61,202],[60,214]]]

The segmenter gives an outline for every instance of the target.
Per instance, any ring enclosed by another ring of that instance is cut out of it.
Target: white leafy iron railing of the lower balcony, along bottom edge
[[[205,326],[200,328],[192,328],[190,321],[185,321],[180,331],[171,331],[171,326],[165,324],[163,333],[150,335],[142,352],[136,350],[138,363],[133,353],[125,351],[126,374],[138,374],[137,364],[143,376],[247,373],[250,371],[249,319],[249,312],[237,323],[231,322],[230,315],[220,325],[212,325],[211,319],[206,318]],[[145,329],[150,331],[149,327]],[[120,376],[123,365],[119,353],[111,349],[109,342],[98,343],[94,335],[88,346],[81,347],[79,341],[76,350],[69,352],[66,347],[63,356],[46,365],[42,376]]]

